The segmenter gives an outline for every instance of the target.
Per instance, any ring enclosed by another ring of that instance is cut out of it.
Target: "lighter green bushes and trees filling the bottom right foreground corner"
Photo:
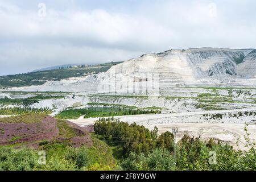
[[[185,135],[177,146],[177,158],[166,148],[155,148],[144,155],[131,152],[121,163],[125,170],[199,170],[240,171],[256,170],[255,147],[249,151],[236,151],[227,144],[213,140],[202,142],[200,138]]]

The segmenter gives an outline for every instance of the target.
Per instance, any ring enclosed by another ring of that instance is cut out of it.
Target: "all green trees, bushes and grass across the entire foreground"
[[[64,130],[62,137],[73,136],[69,135],[67,126]],[[74,148],[68,142],[43,140],[37,150],[0,147],[0,170],[256,170],[256,146],[249,138],[247,126],[247,151],[233,150],[214,139],[203,141],[188,135],[174,144],[174,135],[169,131],[157,133],[156,127],[150,131],[135,123],[128,125],[110,118],[100,119],[95,124],[95,134],[91,135],[93,146]],[[38,151],[42,150],[46,152],[45,165],[38,163]]]

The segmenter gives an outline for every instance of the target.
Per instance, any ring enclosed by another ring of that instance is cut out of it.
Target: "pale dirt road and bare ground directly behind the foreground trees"
[[[172,131],[172,127],[177,127],[179,133],[177,134],[177,139],[183,137],[184,134],[188,134],[194,137],[201,137],[204,140],[209,138],[215,138],[217,140],[228,142],[234,148],[237,147],[238,138],[241,139],[240,147],[242,150],[246,150],[244,146],[245,140],[243,136],[245,135],[244,127],[245,124],[238,123],[165,123],[160,124],[159,119],[162,118],[175,118],[183,116],[193,116],[193,115],[203,115],[203,114],[217,114],[217,113],[237,113],[240,111],[255,111],[255,109],[239,109],[239,110],[219,110],[219,111],[197,111],[197,112],[187,112],[187,113],[173,113],[173,114],[143,114],[143,115],[126,115],[119,116],[123,122],[128,123],[142,123],[145,127],[152,130],[154,127],[158,127],[159,133],[165,131]],[[80,126],[93,125],[98,118],[87,118],[84,116],[79,119],[69,119],[69,121],[76,123]],[[145,121],[155,121],[150,122],[150,125],[144,124]],[[251,133],[250,138],[256,140],[256,125],[251,124],[248,126],[249,133]]]

